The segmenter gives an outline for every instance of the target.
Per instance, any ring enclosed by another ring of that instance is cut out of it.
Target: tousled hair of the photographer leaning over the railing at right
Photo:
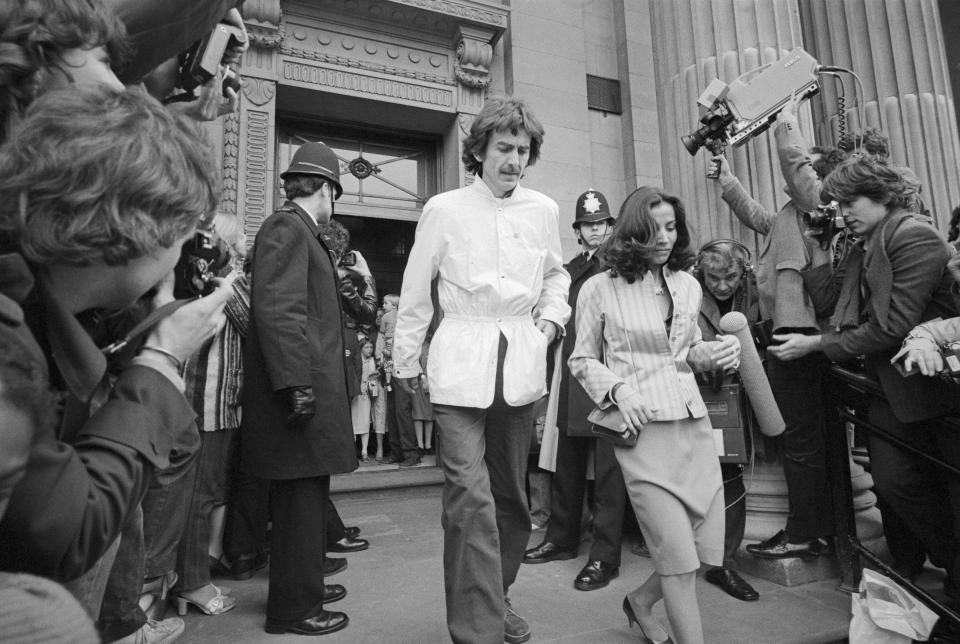
[[[829,203],[850,203],[867,197],[884,204],[888,210],[916,207],[917,181],[905,177],[896,168],[873,156],[847,159],[823,180],[820,200]]]

